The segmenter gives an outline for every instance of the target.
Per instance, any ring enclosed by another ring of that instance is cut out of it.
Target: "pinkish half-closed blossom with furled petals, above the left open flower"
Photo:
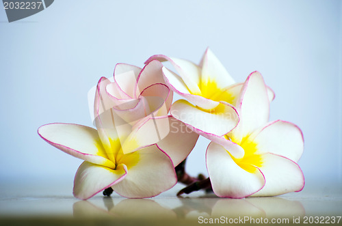
[[[167,115],[172,104],[173,94],[163,80],[161,72],[162,66],[156,60],[150,61],[142,70],[135,66],[125,64],[116,66],[118,68],[116,71],[124,72],[124,77],[131,78],[126,80],[122,79],[130,83],[122,83],[121,85],[123,87],[120,87],[120,90],[130,94],[130,96],[122,96],[122,99],[120,99],[120,96],[116,95],[118,93],[118,83],[114,81],[114,83],[107,84],[103,95],[107,95],[113,102],[113,109],[111,111],[115,111],[116,115],[131,125],[134,125],[137,120],[143,119],[150,114]],[[129,73],[127,72],[129,69],[131,69],[129,71],[131,74],[127,74]],[[139,74],[135,78],[137,72]],[[116,76],[121,77],[122,75],[114,74],[114,79]],[[134,90],[132,91],[132,89]]]

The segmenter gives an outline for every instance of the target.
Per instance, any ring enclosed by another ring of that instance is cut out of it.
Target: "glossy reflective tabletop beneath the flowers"
[[[1,185],[0,222],[17,224],[48,223],[194,223],[214,218],[301,218],[341,216],[342,193],[338,186],[309,186],[300,193],[278,197],[222,199],[203,192],[176,197],[183,186],[151,199],[125,199],[116,194],[101,194],[88,201],[76,199],[67,186],[51,183]],[[205,220],[206,219],[206,220]],[[341,223],[341,222],[340,222]]]

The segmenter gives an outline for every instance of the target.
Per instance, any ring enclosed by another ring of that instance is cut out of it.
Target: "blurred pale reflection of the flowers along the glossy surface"
[[[219,199],[202,197],[198,199],[111,199],[104,197],[92,201],[77,201],[73,205],[75,218],[135,218],[197,220],[204,218],[233,218],[250,216],[254,218],[276,218],[304,216],[300,201],[280,197],[251,197],[246,199]]]

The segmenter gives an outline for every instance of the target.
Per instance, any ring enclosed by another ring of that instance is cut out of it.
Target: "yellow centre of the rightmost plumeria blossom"
[[[244,137],[241,142],[234,139],[234,137],[227,137],[226,139],[231,138],[231,141],[240,145],[245,151],[244,157],[242,158],[235,158],[229,152],[228,154],[231,155],[234,162],[241,167],[242,169],[248,171],[249,173],[255,173],[257,171],[256,167],[261,167],[263,165],[263,158],[261,154],[257,154],[257,143],[251,141],[249,136]]]

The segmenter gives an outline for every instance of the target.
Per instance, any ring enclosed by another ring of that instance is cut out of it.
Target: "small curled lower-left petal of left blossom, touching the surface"
[[[110,169],[88,162],[83,162],[75,175],[74,196],[89,199],[102,190],[120,182],[126,175],[123,166]]]

